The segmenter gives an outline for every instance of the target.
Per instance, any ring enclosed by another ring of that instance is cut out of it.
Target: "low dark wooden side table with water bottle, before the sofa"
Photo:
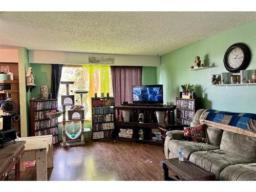
[[[215,174],[203,169],[184,158],[180,162],[178,158],[161,161],[163,177],[165,181],[212,181],[216,180]],[[169,169],[174,175],[169,176]]]

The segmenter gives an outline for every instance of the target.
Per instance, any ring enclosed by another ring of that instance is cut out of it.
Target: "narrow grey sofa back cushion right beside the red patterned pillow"
[[[206,126],[206,137],[210,145],[220,146],[223,130],[213,126]]]

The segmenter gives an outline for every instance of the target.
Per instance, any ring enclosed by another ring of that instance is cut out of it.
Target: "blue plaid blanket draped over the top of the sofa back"
[[[256,114],[205,110],[200,123],[233,133],[256,137]]]

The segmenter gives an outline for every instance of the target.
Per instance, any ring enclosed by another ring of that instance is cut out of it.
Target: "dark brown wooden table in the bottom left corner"
[[[19,180],[19,162],[20,157],[24,154],[24,145],[26,141],[12,141],[5,143],[0,148],[0,180],[8,179],[9,172],[15,165],[15,180]]]

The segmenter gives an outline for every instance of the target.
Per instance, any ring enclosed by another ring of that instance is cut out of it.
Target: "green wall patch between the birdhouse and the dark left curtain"
[[[31,91],[31,98],[37,99],[37,94],[40,94],[40,86],[49,86],[49,93],[51,93],[51,65],[31,63],[31,67],[34,71],[36,83],[36,87]]]

